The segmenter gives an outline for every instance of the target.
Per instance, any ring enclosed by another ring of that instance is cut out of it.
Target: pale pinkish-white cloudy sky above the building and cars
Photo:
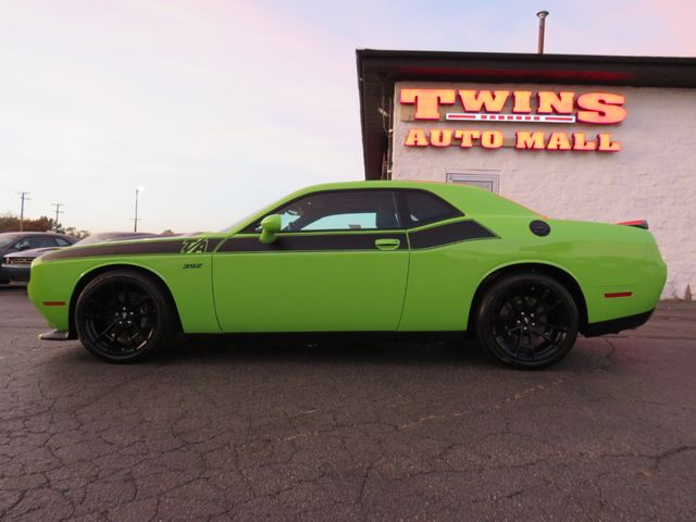
[[[215,231],[362,179],[356,49],[696,55],[696,0],[0,0],[0,214]]]

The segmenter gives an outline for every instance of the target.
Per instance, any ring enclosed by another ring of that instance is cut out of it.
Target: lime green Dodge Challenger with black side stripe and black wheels
[[[647,223],[551,220],[453,184],[306,188],[222,233],[72,247],[32,264],[53,332],[110,362],[185,334],[473,333],[515,368],[635,328],[667,268]]]

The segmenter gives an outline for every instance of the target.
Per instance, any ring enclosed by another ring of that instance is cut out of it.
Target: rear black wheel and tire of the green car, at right
[[[563,285],[537,273],[504,276],[476,313],[478,341],[512,368],[537,370],[561,361],[575,344],[577,306]]]

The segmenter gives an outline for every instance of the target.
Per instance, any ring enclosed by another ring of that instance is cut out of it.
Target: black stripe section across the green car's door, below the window
[[[400,241],[398,250],[408,248],[406,234],[278,235],[270,245],[259,241],[258,236],[231,237],[222,244],[217,252],[376,250],[374,243],[377,239],[398,239]]]

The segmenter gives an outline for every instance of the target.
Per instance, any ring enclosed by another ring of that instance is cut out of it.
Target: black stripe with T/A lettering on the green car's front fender
[[[48,252],[44,261],[57,259],[94,258],[102,256],[139,256],[157,253],[206,253],[212,252],[222,239],[186,238],[172,240],[142,240],[125,244],[99,244],[88,247],[69,247]]]

